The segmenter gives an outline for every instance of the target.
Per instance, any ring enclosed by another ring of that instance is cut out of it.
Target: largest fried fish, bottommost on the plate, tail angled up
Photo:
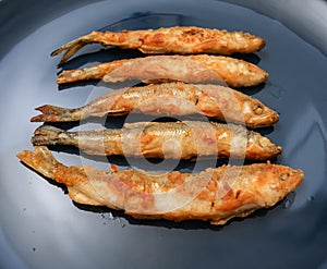
[[[66,185],[76,203],[124,210],[138,219],[204,220],[225,224],[271,207],[303,181],[301,170],[267,163],[209,168],[199,173],[95,170],[58,163],[47,147],[25,150],[19,159]]]

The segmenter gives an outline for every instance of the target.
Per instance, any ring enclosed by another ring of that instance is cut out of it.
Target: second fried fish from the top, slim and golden
[[[150,56],[116,60],[77,70],[64,70],[58,84],[87,80],[107,83],[143,82],[226,83],[231,87],[255,86],[268,78],[257,65],[222,56]]]

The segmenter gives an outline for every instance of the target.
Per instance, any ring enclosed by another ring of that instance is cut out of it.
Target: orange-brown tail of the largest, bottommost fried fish
[[[36,146],[35,152],[24,150],[17,154],[17,158],[27,167],[34,169],[36,172],[46,178],[55,179],[55,168],[58,161],[51,155],[50,150],[45,146]]]

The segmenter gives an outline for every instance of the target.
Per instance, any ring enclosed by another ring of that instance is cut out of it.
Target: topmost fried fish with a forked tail
[[[251,53],[261,50],[265,40],[242,32],[227,32],[195,26],[175,26],[159,29],[92,32],[55,50],[51,56],[65,51],[59,65],[66,62],[87,44],[117,46],[124,49],[138,49],[148,54],[194,54],[194,53]]]

